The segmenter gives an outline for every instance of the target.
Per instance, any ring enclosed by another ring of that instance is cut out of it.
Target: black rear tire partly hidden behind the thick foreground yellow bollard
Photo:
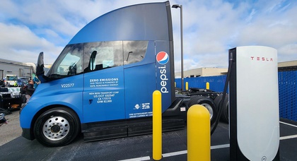
[[[218,116],[218,110],[213,100],[209,97],[194,95],[191,97],[188,107],[190,108],[192,105],[202,105],[206,107],[206,109],[209,110],[211,125],[214,124]]]

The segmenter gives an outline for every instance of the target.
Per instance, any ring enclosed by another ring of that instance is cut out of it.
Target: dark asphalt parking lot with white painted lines
[[[297,158],[296,125],[280,121],[281,160]],[[17,136],[1,145],[0,151],[1,160],[153,160],[152,135],[93,142],[84,142],[81,135],[74,143],[58,148],[47,148],[36,140]],[[162,154],[162,160],[187,160],[187,129],[163,133]],[[220,123],[211,136],[211,160],[229,160],[228,124]]]

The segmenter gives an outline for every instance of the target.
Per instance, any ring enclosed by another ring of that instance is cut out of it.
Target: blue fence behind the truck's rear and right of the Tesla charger
[[[226,75],[184,79],[189,88],[206,88],[209,82],[209,89],[216,92],[223,92],[225,81]],[[279,71],[279,117],[293,121],[297,121],[296,81],[297,71]],[[175,83],[177,88],[181,88],[180,78],[176,78]]]

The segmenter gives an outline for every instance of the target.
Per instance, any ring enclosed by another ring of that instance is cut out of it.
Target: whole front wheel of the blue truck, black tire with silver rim
[[[71,143],[79,130],[80,122],[76,113],[66,107],[56,107],[44,112],[34,124],[37,141],[50,147]]]

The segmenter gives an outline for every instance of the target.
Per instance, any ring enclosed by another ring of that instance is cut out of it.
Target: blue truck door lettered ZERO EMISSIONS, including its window
[[[124,119],[122,42],[84,47],[83,123]]]

